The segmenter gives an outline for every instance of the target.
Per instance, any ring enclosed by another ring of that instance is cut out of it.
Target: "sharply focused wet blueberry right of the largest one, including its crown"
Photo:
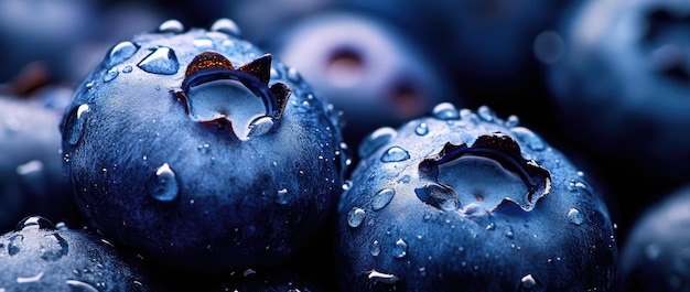
[[[334,228],[344,291],[611,288],[601,194],[516,116],[440,104],[359,154]]]

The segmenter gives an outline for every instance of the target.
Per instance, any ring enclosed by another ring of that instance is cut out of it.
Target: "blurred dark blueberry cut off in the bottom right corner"
[[[687,291],[690,270],[690,186],[682,185],[648,205],[632,225],[621,248],[619,291]]]

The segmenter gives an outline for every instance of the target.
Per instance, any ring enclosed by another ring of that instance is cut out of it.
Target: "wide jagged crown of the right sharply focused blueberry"
[[[529,212],[551,190],[549,171],[524,159],[515,139],[500,132],[478,137],[472,147],[446,142],[420,162],[419,176],[417,196],[442,210],[461,209],[462,198],[465,207],[476,199],[490,212],[508,203]]]

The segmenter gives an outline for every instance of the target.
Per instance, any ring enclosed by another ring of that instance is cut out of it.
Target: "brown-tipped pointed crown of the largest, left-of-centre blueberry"
[[[205,51],[190,62],[173,95],[201,123],[229,127],[240,140],[263,134],[280,120],[292,93],[284,83],[269,86],[271,61],[265,54],[236,69],[220,53]]]

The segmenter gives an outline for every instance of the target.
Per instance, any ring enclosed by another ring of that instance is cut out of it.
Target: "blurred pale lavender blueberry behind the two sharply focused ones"
[[[427,52],[385,19],[334,9],[301,18],[273,35],[267,46],[343,110],[352,144],[454,96]]]

